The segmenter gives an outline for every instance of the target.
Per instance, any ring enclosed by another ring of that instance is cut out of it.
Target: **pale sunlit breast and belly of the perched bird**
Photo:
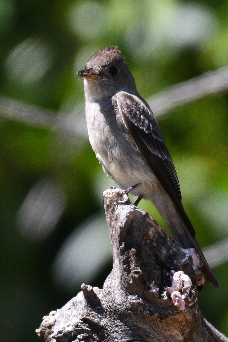
[[[100,112],[99,104],[86,104],[90,144],[104,171],[122,188],[140,184],[132,194],[149,198],[160,183],[123,127],[114,131]]]

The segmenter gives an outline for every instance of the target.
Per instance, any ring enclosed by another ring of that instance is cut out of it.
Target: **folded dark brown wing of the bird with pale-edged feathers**
[[[194,228],[182,205],[179,180],[172,158],[152,110],[144,100],[126,92],[118,94],[117,104],[124,124],[145,161],[173,201],[189,233],[195,237]]]

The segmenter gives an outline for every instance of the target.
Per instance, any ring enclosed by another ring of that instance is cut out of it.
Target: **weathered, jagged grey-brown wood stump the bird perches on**
[[[47,342],[228,342],[198,309],[204,277],[194,250],[183,250],[119,189],[104,192],[104,208],[112,272],[103,289],[83,284],[75,298],[43,317],[38,336]]]

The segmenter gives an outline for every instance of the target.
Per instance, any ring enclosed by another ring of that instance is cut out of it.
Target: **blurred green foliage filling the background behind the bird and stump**
[[[228,1],[0,0],[1,95],[52,109],[56,117],[59,110],[72,114],[75,126],[84,102],[76,72],[108,45],[122,50],[148,98],[228,64]],[[224,92],[159,118],[202,247],[228,236],[227,111]],[[111,270],[101,218],[102,191],[112,181],[82,136],[5,117],[0,130],[1,340],[38,341],[34,330],[43,315],[76,295],[82,282],[102,287]],[[163,223],[151,203],[141,208]],[[99,241],[83,236],[83,229],[97,228]],[[69,236],[97,253],[94,260],[88,253],[74,260],[64,244]],[[221,289],[205,285],[199,296],[204,317],[225,334],[227,266],[214,269]]]

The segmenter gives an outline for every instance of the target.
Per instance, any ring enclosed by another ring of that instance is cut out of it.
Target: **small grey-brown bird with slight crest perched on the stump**
[[[103,170],[123,189],[149,199],[183,249],[195,248],[209,284],[219,283],[184,210],[180,184],[160,126],[139,95],[117,46],[94,53],[77,73],[84,81],[89,141]]]

